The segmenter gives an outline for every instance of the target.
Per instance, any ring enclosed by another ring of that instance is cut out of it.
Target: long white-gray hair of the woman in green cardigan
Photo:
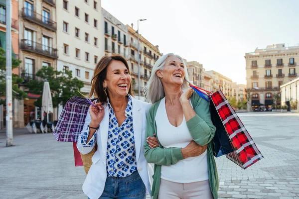
[[[181,89],[184,91],[189,87],[189,84],[188,84],[188,83],[190,83],[189,82],[189,76],[188,76],[188,71],[187,71],[187,67],[186,67],[186,64],[185,64],[184,60],[180,56],[175,55],[173,53],[165,54],[162,57],[160,57],[155,62],[155,64],[153,65],[152,70],[151,70],[151,75],[149,77],[149,81],[148,81],[147,85],[144,88],[145,98],[146,98],[146,100],[148,100],[151,103],[155,103],[158,100],[161,100],[162,98],[165,97],[162,82],[161,82],[160,78],[156,75],[156,72],[158,70],[163,70],[164,69],[166,59],[169,56],[177,57],[183,63],[184,71],[185,71],[185,78],[183,80],[183,84],[181,86]]]

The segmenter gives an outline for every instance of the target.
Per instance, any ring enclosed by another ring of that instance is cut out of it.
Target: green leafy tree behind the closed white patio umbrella
[[[63,106],[73,96],[82,96],[80,89],[84,87],[84,83],[77,78],[72,77],[71,71],[56,71],[53,67],[43,66],[39,71],[37,71],[35,80],[30,80],[26,87],[30,92],[42,95],[43,82],[47,80],[50,85],[50,90],[52,94],[53,107],[58,107],[59,104]],[[34,105],[41,107],[42,96],[40,96]]]

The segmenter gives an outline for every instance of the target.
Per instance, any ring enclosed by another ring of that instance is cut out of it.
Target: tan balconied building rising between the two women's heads
[[[128,27],[129,38],[129,66],[131,67],[131,75],[133,82],[133,90],[135,95],[138,95],[138,54],[140,55],[140,90],[142,91],[149,81],[151,75],[151,69],[156,60],[159,59],[162,54],[159,51],[158,46],[151,44],[141,34],[139,35],[139,53],[138,53],[138,33],[133,27]]]

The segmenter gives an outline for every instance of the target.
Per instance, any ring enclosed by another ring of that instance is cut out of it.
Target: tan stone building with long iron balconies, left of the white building
[[[56,4],[54,0],[19,0],[19,73],[24,83],[36,79],[35,73],[43,66],[57,67]],[[28,93],[18,112],[23,123],[42,117],[34,106],[39,96]],[[22,114],[23,113],[23,114]],[[34,113],[34,114],[33,114]]]

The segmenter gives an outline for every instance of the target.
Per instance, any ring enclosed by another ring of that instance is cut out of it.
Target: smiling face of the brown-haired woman
[[[121,61],[113,60],[108,68],[103,86],[107,87],[108,93],[113,97],[125,97],[129,93],[131,76],[126,65]]]

